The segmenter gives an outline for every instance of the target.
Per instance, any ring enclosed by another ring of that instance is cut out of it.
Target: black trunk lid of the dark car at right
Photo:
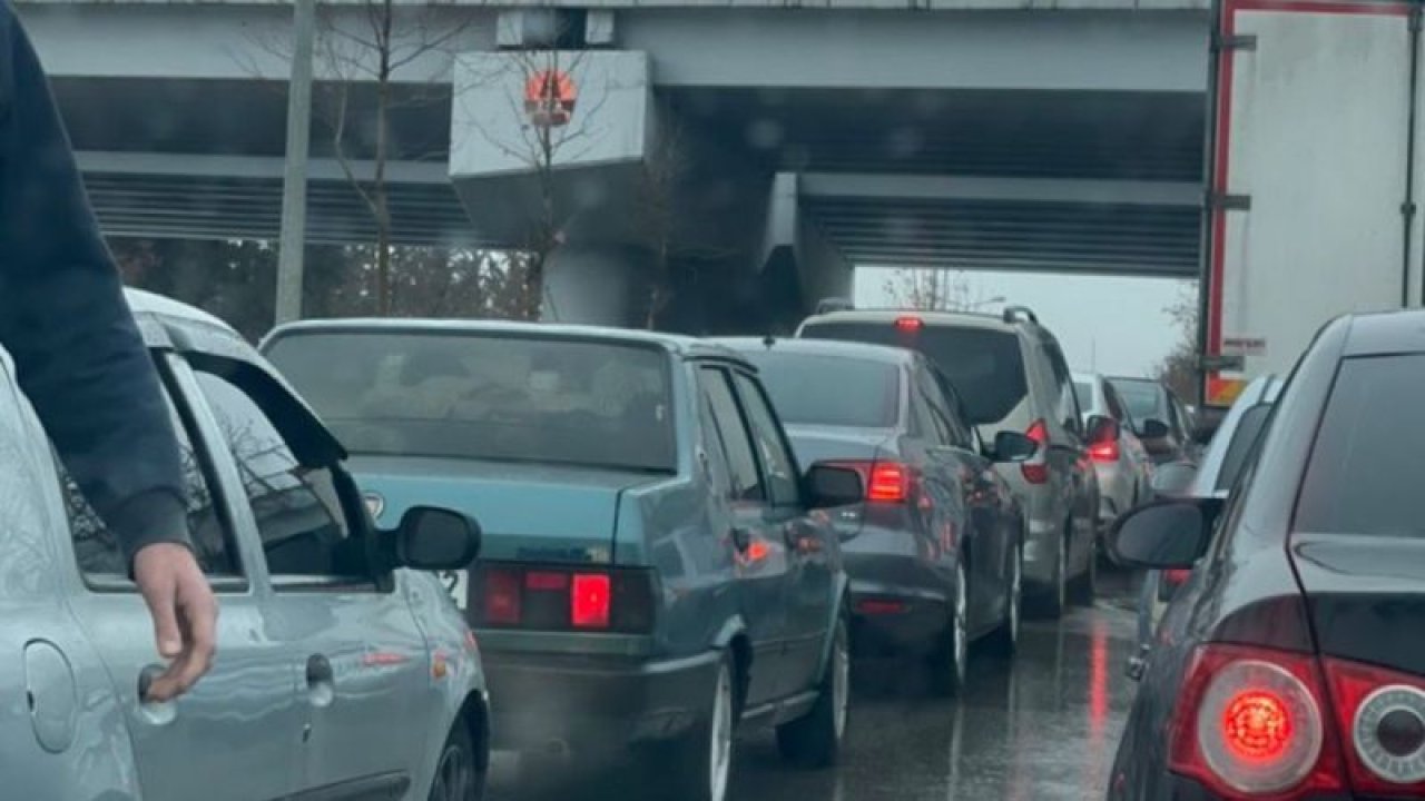
[[[1425,540],[1295,534],[1291,557],[1322,654],[1425,676]]]

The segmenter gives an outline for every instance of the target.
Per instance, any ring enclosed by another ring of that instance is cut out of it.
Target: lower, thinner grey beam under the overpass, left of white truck
[[[1203,204],[1203,187],[1197,182],[862,172],[804,174],[801,195],[819,200],[983,200],[1186,208],[1198,208]]]

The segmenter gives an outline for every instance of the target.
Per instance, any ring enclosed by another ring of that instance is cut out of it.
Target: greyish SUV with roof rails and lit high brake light
[[[1002,430],[1033,439],[1032,459],[996,466],[1025,507],[1025,580],[1052,617],[1070,597],[1093,601],[1099,482],[1086,448],[1087,429],[1103,423],[1083,422],[1059,341],[1033,312],[831,311],[797,336],[919,351],[955,385],[983,440]]]

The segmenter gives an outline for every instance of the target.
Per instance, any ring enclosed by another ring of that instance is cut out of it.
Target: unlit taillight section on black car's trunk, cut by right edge
[[[1355,792],[1425,797],[1425,678],[1371,664],[1324,663]]]

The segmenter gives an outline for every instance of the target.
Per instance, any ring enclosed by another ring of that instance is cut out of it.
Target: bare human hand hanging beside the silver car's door
[[[148,686],[144,701],[168,701],[187,693],[212,666],[218,601],[185,546],[154,543],[134,556],[134,582],[154,619],[158,653],[168,670]]]

